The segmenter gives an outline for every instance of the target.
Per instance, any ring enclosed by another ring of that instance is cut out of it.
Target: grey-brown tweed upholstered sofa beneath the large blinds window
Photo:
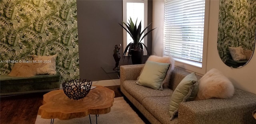
[[[152,124],[256,124],[256,94],[235,89],[229,99],[210,98],[181,102],[178,117],[170,120],[170,97],[180,81],[190,74],[174,68],[168,88],[155,90],[135,83],[144,64],[120,66],[120,90]],[[200,75],[196,75],[198,80]]]

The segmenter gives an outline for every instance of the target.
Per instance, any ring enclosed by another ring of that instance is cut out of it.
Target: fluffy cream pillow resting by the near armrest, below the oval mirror
[[[199,81],[195,100],[208,98],[230,98],[234,95],[234,86],[220,71],[211,69]]]

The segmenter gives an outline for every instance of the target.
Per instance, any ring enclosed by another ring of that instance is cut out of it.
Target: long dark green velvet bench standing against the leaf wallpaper
[[[0,75],[0,95],[47,92],[60,88],[60,73],[33,77]]]

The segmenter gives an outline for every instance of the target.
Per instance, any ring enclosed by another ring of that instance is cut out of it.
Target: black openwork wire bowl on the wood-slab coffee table
[[[63,91],[68,98],[73,100],[79,100],[84,98],[91,90],[92,81],[90,80],[70,80],[62,83]]]

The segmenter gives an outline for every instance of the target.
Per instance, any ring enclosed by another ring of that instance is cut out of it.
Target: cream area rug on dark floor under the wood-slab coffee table
[[[90,115],[92,124],[96,124],[96,116]],[[98,124],[145,124],[138,114],[130,107],[123,97],[114,98],[111,111],[97,117]],[[50,124],[51,119],[41,118],[37,115],[35,124]],[[54,124],[90,124],[89,116],[71,120],[54,119]]]

